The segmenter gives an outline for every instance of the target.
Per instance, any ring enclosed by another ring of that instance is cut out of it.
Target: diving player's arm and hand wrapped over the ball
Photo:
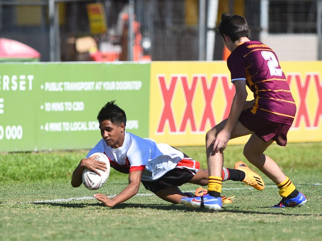
[[[106,171],[106,163],[95,160],[94,158],[97,156],[92,156],[89,158],[81,159],[81,162],[78,164],[76,169],[73,171],[71,176],[71,185],[73,187],[79,187],[82,183],[82,174],[85,168],[101,175],[98,170]]]

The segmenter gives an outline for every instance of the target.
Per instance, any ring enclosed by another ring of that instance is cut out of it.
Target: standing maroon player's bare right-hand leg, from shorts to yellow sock
[[[263,154],[272,142],[273,140],[265,142],[257,135],[252,134],[244,147],[244,156],[274,183],[278,184],[284,182],[286,176],[273,159]]]

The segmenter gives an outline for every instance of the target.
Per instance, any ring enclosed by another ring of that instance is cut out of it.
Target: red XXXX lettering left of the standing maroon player
[[[224,112],[224,119],[228,117],[230,112],[230,106],[232,104],[232,99],[235,94],[235,87],[228,86],[228,78],[226,75],[213,75],[211,77],[210,84],[207,83],[206,75],[193,75],[192,76],[192,83],[188,84],[188,77],[186,75],[173,75],[170,78],[170,82],[166,84],[166,77],[165,75],[158,75],[157,80],[162,92],[162,98],[164,107],[162,110],[161,118],[157,125],[157,133],[162,133],[164,131],[166,122],[169,124],[169,129],[171,132],[184,132],[187,126],[188,121],[191,124],[191,130],[193,132],[196,131],[204,131],[206,122],[209,121],[211,126],[216,124],[214,113],[213,113],[213,106],[211,105],[213,96],[215,93],[216,85],[218,81],[222,81],[223,84],[223,91],[225,93],[227,107]],[[203,114],[201,116],[201,124],[197,126],[196,124],[196,117],[194,115],[194,110],[192,107],[192,102],[194,99],[194,94],[196,90],[197,83],[201,84],[203,95],[204,95],[204,103],[205,107],[203,110]],[[185,98],[185,110],[182,117],[182,121],[179,126],[175,125],[174,120],[174,112],[172,109],[172,99],[175,93],[175,89],[178,85],[182,86]]]

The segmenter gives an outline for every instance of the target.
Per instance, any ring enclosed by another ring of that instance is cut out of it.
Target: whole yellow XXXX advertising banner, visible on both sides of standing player
[[[297,104],[289,142],[322,141],[322,62],[281,66]],[[229,115],[235,89],[225,61],[152,62],[150,79],[149,137],[158,143],[204,145],[206,132]]]

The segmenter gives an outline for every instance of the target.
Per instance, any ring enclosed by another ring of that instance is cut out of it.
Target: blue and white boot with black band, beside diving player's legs
[[[209,194],[194,198],[181,198],[181,204],[189,208],[205,208],[210,210],[220,210],[222,207],[221,197],[215,198]]]

